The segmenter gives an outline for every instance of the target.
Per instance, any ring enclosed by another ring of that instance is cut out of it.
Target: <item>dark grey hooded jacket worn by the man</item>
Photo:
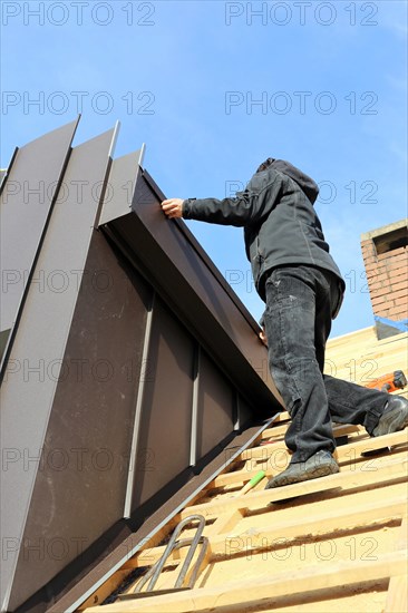
[[[319,187],[283,159],[256,173],[233,198],[183,202],[183,217],[244,227],[245,249],[256,290],[265,300],[265,273],[284,264],[310,264],[341,273],[329,253],[313,203]]]

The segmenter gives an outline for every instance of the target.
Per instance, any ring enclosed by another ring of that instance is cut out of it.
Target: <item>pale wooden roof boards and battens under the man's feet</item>
[[[361,362],[376,356],[378,372],[395,363],[404,370],[407,340],[402,333],[378,341],[375,329],[366,329],[333,339],[328,360],[343,376],[350,356]],[[363,368],[357,373],[357,382],[367,376]],[[168,557],[156,595],[129,596],[138,578],[125,586],[125,577],[157,562],[165,538],[146,543],[78,610],[90,613],[104,603],[106,613],[408,611],[407,430],[370,438],[361,426],[334,425],[340,473],[265,490],[266,479],[290,459],[288,424],[289,415],[280,413],[173,519],[168,536],[188,516],[206,522],[208,547],[193,588],[173,588],[187,554],[182,548]],[[260,470],[265,477],[242,494]],[[181,537],[192,537],[195,524]]]

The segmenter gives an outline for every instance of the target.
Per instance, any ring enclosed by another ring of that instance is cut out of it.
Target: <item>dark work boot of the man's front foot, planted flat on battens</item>
[[[290,464],[283,473],[270,479],[265,489],[307,481],[308,479],[315,479],[318,477],[326,477],[334,473],[339,473],[339,466],[336,459],[329,451],[321,450],[307,461]]]

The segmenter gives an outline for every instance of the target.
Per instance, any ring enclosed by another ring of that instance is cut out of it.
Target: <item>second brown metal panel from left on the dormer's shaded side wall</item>
[[[145,370],[133,509],[190,464],[194,341],[156,299]]]

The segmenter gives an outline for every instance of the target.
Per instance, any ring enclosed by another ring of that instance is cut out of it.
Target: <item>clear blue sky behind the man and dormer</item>
[[[265,157],[321,184],[317,211],[347,280],[333,335],[373,323],[360,234],[407,215],[405,1],[1,3],[1,166],[78,111],[76,144],[146,143],[171,197],[224,197]],[[37,100],[37,103],[36,103]],[[188,222],[259,319],[242,231]]]

